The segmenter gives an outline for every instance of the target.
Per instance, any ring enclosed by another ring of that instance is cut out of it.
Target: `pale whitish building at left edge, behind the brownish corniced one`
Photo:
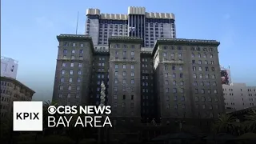
[[[1,77],[16,79],[18,71],[18,61],[12,58],[1,57]]]

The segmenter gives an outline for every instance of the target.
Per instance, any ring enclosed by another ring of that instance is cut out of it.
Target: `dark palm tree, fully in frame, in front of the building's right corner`
[[[236,127],[236,118],[230,114],[221,114],[214,122],[214,131],[217,133],[233,133]]]

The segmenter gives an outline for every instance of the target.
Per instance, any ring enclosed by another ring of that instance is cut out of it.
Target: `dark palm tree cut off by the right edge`
[[[245,118],[246,130],[256,132],[256,110],[250,110],[250,112],[246,114]]]

